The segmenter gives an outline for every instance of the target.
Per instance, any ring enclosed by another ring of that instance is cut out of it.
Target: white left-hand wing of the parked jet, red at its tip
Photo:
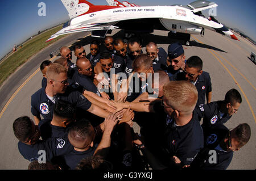
[[[76,33],[76,32],[82,32],[82,31],[100,31],[100,30],[114,30],[118,27],[113,26],[108,23],[97,23],[97,24],[79,24],[75,26],[68,26],[60,31],[56,32],[54,35],[52,35],[46,42],[51,41],[52,39],[55,39],[56,37],[60,35],[65,35],[68,33]]]

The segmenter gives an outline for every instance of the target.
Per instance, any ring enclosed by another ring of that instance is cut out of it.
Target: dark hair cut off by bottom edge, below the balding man
[[[97,171],[107,171],[112,170],[112,163],[105,161],[101,157],[87,157],[81,159],[79,165],[77,165],[76,170],[97,170]]]

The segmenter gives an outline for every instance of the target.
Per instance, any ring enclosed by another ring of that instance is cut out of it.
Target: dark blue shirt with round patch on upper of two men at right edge
[[[214,127],[217,127],[220,124],[226,123],[232,116],[229,116],[228,113],[221,113],[220,106],[222,100],[211,102],[209,104],[204,104],[196,106],[195,111],[199,118],[203,117],[203,124],[201,125],[204,131],[204,134]]]

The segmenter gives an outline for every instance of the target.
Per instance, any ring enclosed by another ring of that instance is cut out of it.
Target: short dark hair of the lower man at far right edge
[[[238,125],[236,128],[236,140],[239,142],[239,146],[245,145],[251,137],[251,128],[249,124],[243,123]]]

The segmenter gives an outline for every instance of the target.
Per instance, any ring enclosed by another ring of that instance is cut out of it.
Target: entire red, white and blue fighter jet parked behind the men
[[[67,27],[56,32],[47,41],[67,33],[91,31],[94,37],[105,37],[114,29],[128,32],[151,33],[154,30],[170,31],[168,37],[184,40],[190,44],[191,34],[200,34],[207,28],[226,35],[237,37],[213,16],[205,18],[201,11],[218,5],[209,1],[195,1],[187,6],[96,6],[85,0],[61,0],[68,10],[71,21]]]

